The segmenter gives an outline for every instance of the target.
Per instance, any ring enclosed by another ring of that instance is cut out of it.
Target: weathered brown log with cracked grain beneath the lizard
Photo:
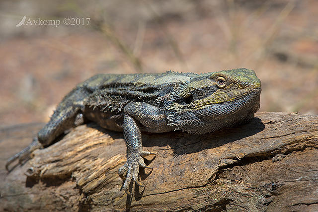
[[[158,155],[131,197],[117,174],[123,135],[94,124],[7,173],[5,160],[41,126],[0,129],[0,211],[318,211],[318,116],[257,113],[207,135],[144,133],[144,149]]]

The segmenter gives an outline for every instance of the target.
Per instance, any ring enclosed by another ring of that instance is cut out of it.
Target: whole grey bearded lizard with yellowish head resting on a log
[[[261,83],[250,69],[207,73],[97,74],[79,83],[58,104],[50,121],[31,144],[7,160],[21,163],[37,148],[52,144],[67,130],[96,122],[102,128],[123,132],[127,161],[119,168],[121,190],[128,195],[139,168],[149,168],[142,133],[181,130],[211,133],[250,121],[260,106]],[[126,173],[126,175],[125,175]]]

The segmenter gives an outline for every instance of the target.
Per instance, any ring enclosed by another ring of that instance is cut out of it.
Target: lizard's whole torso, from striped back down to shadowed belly
[[[101,127],[122,131],[123,109],[130,102],[143,102],[163,108],[160,98],[177,83],[187,83],[196,73],[97,74],[77,87],[89,94],[83,100],[84,116]]]

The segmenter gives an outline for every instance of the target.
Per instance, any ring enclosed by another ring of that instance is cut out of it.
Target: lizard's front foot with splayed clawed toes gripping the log
[[[143,150],[138,151],[137,153],[127,154],[127,162],[118,170],[119,176],[125,180],[121,190],[124,190],[127,195],[131,195],[131,193],[128,191],[131,180],[134,180],[134,182],[138,186],[144,187],[144,185],[138,181],[139,166],[143,168],[153,169],[153,167],[147,166],[145,164],[145,161],[143,158],[151,154],[156,155],[156,153],[154,152],[143,151]],[[127,176],[125,179],[124,173],[126,171],[127,171]]]

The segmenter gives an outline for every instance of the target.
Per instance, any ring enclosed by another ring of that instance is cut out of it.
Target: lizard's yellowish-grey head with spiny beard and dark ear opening
[[[204,134],[249,121],[259,109],[261,84],[255,72],[236,69],[198,74],[178,83],[166,104],[168,124]]]

